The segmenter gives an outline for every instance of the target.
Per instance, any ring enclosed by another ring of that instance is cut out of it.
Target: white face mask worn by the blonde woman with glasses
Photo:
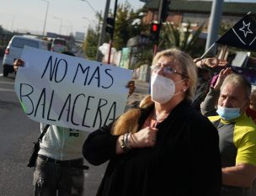
[[[182,82],[185,79],[179,81]],[[172,79],[163,77],[159,74],[152,74],[151,78],[151,97],[152,101],[157,103],[168,103],[168,101],[173,98],[175,93],[175,83]]]

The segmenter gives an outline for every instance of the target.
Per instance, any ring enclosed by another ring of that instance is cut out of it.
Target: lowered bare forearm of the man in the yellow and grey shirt
[[[256,166],[242,163],[234,167],[222,168],[222,184],[250,188],[256,177]]]

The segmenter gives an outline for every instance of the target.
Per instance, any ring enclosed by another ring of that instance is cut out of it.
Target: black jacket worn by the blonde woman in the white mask
[[[140,124],[150,110],[142,111]],[[221,161],[219,138],[211,122],[191,107],[179,103],[157,125],[155,147],[115,154],[118,136],[109,126],[94,131],[83,146],[88,162],[109,161],[97,195],[100,196],[219,196]]]

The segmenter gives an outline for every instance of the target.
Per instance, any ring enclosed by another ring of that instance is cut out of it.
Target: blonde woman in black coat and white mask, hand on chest
[[[191,106],[196,66],[181,50],[157,53],[151,96],[112,124],[88,135],[83,156],[109,161],[97,196],[218,196],[221,157],[218,133]]]

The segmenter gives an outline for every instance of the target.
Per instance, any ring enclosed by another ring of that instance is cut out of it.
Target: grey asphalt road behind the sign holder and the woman
[[[32,143],[40,135],[40,124],[29,119],[20,107],[14,93],[14,74],[3,77],[0,59],[0,195],[32,196],[33,168],[26,167]],[[147,92],[146,82],[136,82],[136,93],[131,95],[127,107],[131,107]],[[88,164],[86,162],[85,164]],[[84,172],[84,196],[95,195],[106,164],[90,167]]]

